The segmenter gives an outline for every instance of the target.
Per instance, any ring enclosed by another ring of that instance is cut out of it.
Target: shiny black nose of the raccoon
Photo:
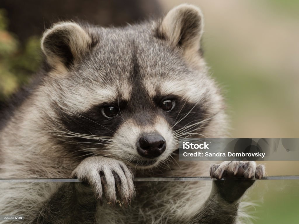
[[[166,141],[156,133],[145,134],[137,142],[137,152],[145,158],[155,158],[161,155],[166,149]]]

